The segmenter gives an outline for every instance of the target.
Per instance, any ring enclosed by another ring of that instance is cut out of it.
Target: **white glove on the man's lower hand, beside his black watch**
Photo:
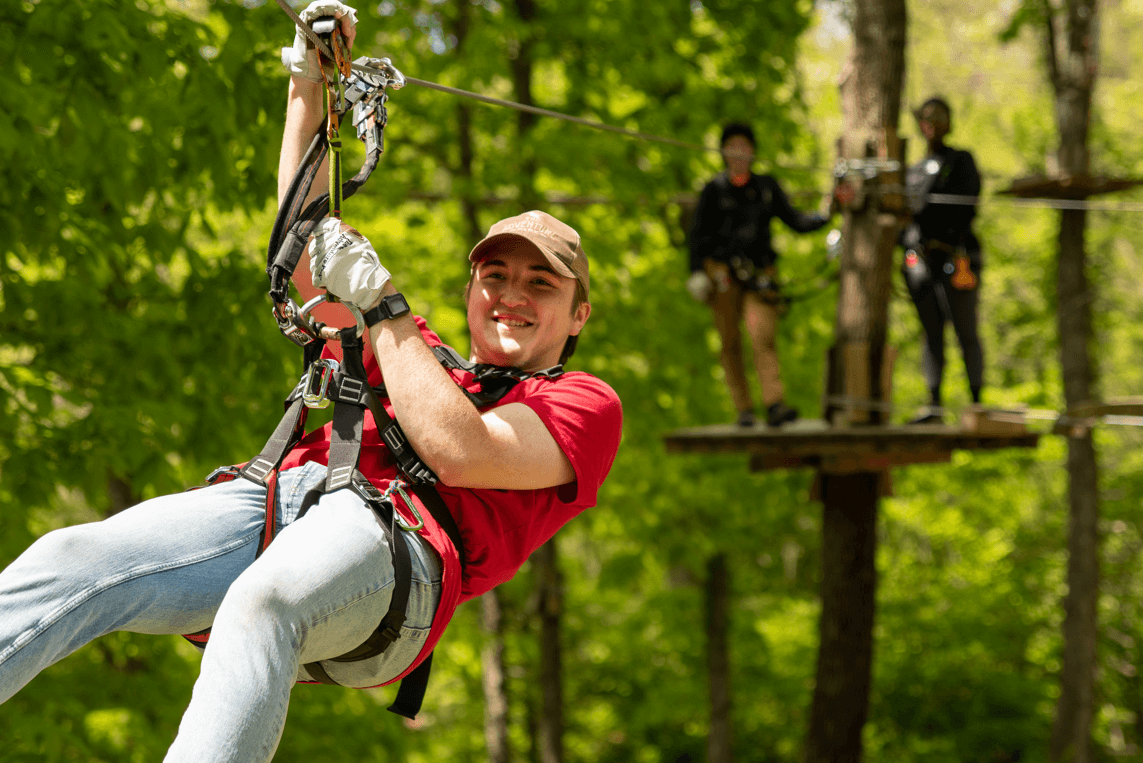
[[[313,286],[362,312],[381,299],[389,283],[389,271],[369,240],[336,217],[325,218],[313,231],[310,274]]]

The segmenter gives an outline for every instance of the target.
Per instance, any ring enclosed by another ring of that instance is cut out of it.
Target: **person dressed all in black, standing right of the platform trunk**
[[[973,154],[944,143],[952,125],[948,103],[929,98],[914,113],[928,151],[909,168],[905,178],[913,219],[901,236],[905,250],[902,272],[925,332],[921,370],[929,404],[911,424],[940,424],[946,322],[952,323],[960,342],[973,402],[981,402],[984,377],[984,353],[977,332],[981,242],[972,227],[975,201],[967,199],[980,195],[981,176]]]

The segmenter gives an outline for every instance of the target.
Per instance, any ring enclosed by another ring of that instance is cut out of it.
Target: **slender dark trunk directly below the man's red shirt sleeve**
[[[563,685],[560,656],[560,612],[563,581],[555,539],[531,555],[539,609],[539,761],[563,763]]]

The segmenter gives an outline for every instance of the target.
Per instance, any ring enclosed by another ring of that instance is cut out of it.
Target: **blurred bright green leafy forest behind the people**
[[[1010,0],[911,5],[905,102],[952,104],[989,195],[1049,171],[1050,89],[1030,29],[1001,41]],[[844,2],[385,0],[362,7],[357,54],[407,74],[705,143],[730,119],[759,168],[820,204],[841,126]],[[1093,171],[1143,176],[1143,3],[1105,0]],[[298,358],[270,316],[273,215],[293,37],[273,3],[0,0],[0,565],[54,528],[200,483],[257,452]],[[523,74],[521,79],[521,74]],[[387,151],[346,217],[414,308],[464,351],[459,294],[477,232],[541,200],[583,234],[593,315],[572,367],[624,401],[600,495],[559,536],[569,761],[703,758],[709,716],[702,579],[734,586],[737,760],[794,761],[813,689],[820,506],[808,473],[668,456],[662,437],[733,417],[709,311],[690,300],[680,199],[714,153],[633,142],[393,94]],[[906,114],[910,159],[921,150]],[[1124,195],[1121,199],[1132,199]],[[1140,196],[1134,196],[1138,199]],[[1056,212],[989,199],[985,402],[1057,409]],[[791,402],[820,409],[836,289],[824,232],[776,248],[797,303],[780,352]],[[1143,391],[1143,217],[1094,212],[1089,256],[1101,393]],[[895,276],[897,278],[897,276]],[[898,282],[890,342],[897,420],[924,402],[919,331]],[[946,396],[967,402],[951,350]],[[1094,730],[1104,758],[1143,755],[1143,432],[1097,429],[1103,595]],[[869,760],[1044,760],[1060,670],[1066,546],[1064,442],[957,453],[894,472],[881,504]],[[511,740],[535,760],[534,581],[503,587]],[[391,690],[301,686],[275,761],[485,758],[479,608],[442,640],[415,724]],[[0,706],[0,761],[158,760],[199,657],[176,637],[114,634]]]

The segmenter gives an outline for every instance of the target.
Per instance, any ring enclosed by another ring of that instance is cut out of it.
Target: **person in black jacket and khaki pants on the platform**
[[[714,327],[722,342],[719,360],[738,411],[738,425],[754,423],[742,362],[740,323],[745,319],[766,420],[780,426],[798,418],[798,411],[785,402],[775,347],[782,298],[775,281],[777,254],[770,246],[770,219],[777,217],[792,230],[809,233],[829,218],[798,211],[777,180],[751,171],[754,132],[749,126],[728,125],[720,146],[726,171],[708,183],[698,199],[689,236],[687,289],[714,312]]]

